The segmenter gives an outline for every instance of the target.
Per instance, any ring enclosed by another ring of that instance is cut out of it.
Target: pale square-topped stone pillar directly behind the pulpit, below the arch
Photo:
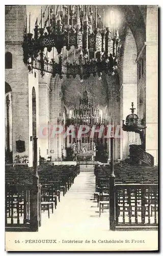
[[[137,84],[122,84],[120,88],[120,104],[121,104],[121,126],[122,120],[131,113],[131,102],[134,103],[135,114],[137,114]],[[129,155],[129,133],[122,131],[121,137],[121,159],[128,158]]]

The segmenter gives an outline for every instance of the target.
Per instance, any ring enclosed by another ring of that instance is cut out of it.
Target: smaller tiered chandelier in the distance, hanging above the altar
[[[83,90],[78,102],[74,108],[71,120],[67,120],[67,124],[73,125],[106,125],[106,119],[100,115],[98,105],[95,103],[94,94],[91,89]]]

